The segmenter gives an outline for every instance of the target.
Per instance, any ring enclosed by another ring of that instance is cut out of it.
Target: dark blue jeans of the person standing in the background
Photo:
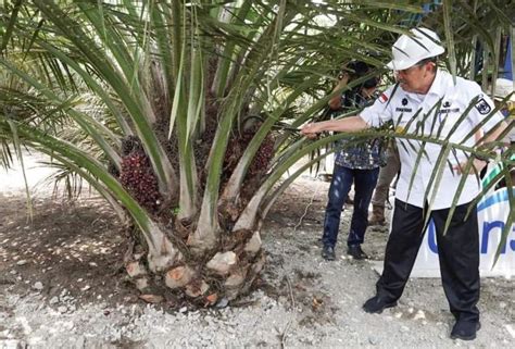
[[[352,212],[351,229],[347,239],[348,246],[363,244],[368,226],[368,205],[377,184],[379,167],[373,170],[355,170],[335,164],[332,180],[329,187],[326,215],[324,219],[324,246],[335,247],[343,203],[354,184],[354,211]]]

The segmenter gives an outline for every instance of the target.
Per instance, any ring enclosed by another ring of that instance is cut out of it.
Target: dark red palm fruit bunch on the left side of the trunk
[[[163,200],[149,158],[142,151],[133,151],[122,158],[120,182],[139,204],[151,213],[158,212]]]

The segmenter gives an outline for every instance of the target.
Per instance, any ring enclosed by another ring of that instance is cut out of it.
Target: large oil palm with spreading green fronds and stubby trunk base
[[[510,16],[476,32],[481,18],[510,12],[494,3],[454,4],[467,7],[457,30],[450,2],[425,17],[445,24],[450,47],[460,43],[451,70],[470,61],[474,40],[494,52],[492,33]],[[326,105],[342,63],[380,71],[420,4],[3,1],[0,159],[9,166],[13,152],[35,149],[102,195],[130,232],[125,265],[142,292],[234,299],[264,265],[260,228],[271,205],[318,159],[288,169],[347,137],[312,142],[296,128]],[[359,135],[377,136],[441,141]]]

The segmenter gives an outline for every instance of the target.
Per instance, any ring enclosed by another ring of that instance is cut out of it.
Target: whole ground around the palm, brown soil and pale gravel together
[[[27,155],[33,188],[49,170]],[[281,196],[262,230],[267,264],[256,289],[227,308],[148,304],[122,267],[125,230],[93,192],[67,200],[52,186],[33,192],[27,217],[22,172],[0,173],[0,348],[164,347],[515,347],[513,279],[483,278],[482,327],[472,342],[449,339],[452,316],[439,279],[413,278],[398,307],[361,310],[378,278],[368,261],[337,248],[321,257],[328,183],[303,176]],[[351,209],[342,213],[344,241]],[[387,228],[363,249],[380,261]]]

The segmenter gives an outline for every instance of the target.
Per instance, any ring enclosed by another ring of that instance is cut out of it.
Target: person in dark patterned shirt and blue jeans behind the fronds
[[[352,79],[368,75],[372,67],[363,62],[351,62],[340,76],[335,90],[343,88]],[[336,113],[349,112],[364,107],[376,91],[379,79],[373,76],[363,84],[337,95],[329,100],[329,108]],[[380,139],[350,144],[355,140],[340,140],[336,152],[335,170],[328,194],[328,202],[324,220],[324,235],[322,237],[322,257],[325,260],[336,259],[335,245],[340,227],[340,215],[349,190],[354,184],[354,210],[352,212],[349,237],[347,239],[348,254],[354,259],[365,259],[361,245],[364,241],[368,224],[368,205],[377,183],[379,166],[384,164],[382,145]]]

